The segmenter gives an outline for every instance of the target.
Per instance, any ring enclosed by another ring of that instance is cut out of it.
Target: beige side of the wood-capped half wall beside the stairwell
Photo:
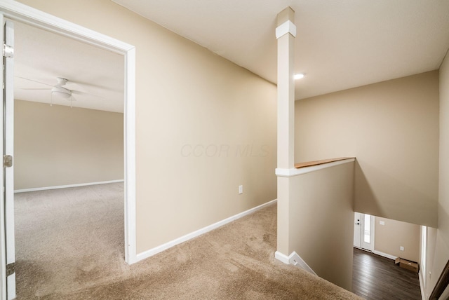
[[[320,277],[351,290],[354,163],[291,177],[289,251]]]

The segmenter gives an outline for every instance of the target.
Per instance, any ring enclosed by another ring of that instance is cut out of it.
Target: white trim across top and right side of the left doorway
[[[125,57],[124,90],[124,186],[125,186],[125,260],[136,260],[135,236],[135,47],[91,29],[43,13],[13,0],[0,1],[6,18],[25,22],[72,39],[114,51]],[[3,144],[3,142],[1,142]],[[3,145],[1,145],[3,147]],[[3,233],[2,233],[3,234]]]

